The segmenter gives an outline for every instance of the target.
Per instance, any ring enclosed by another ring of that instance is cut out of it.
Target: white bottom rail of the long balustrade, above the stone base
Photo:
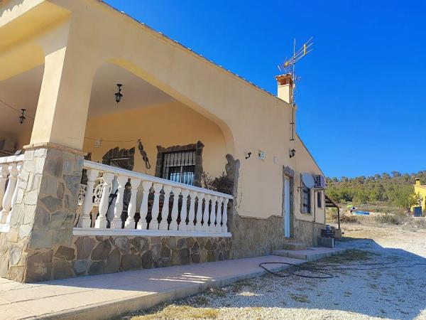
[[[210,237],[231,238],[231,233],[202,233],[196,231],[74,228],[73,235],[129,235],[133,237]]]

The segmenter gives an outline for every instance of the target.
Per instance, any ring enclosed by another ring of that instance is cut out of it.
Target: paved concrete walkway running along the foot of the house
[[[258,267],[261,262],[305,261],[268,255],[33,284],[0,278],[0,319],[108,319],[196,294],[209,286],[223,287],[257,277],[265,273]],[[278,271],[286,266],[268,267]]]

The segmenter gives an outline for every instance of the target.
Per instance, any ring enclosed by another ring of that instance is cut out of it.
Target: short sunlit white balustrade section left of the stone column
[[[9,232],[10,229],[22,161],[23,154],[0,158],[0,232]]]

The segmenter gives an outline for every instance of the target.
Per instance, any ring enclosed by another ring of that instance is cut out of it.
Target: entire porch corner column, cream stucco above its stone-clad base
[[[31,142],[24,147],[13,193],[10,230],[0,233],[0,277],[18,282],[72,277],[77,272],[69,258],[75,255],[72,228],[97,57],[72,37],[69,22],[54,28],[40,43],[45,68]],[[10,194],[5,196],[9,199]]]

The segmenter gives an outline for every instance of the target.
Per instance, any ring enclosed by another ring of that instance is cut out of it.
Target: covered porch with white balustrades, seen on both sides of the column
[[[43,71],[40,65],[1,81],[1,152],[9,154],[0,159],[3,230],[18,196],[23,149],[37,130]],[[232,181],[224,172],[231,142],[216,123],[114,63],[94,73],[87,114],[74,235],[230,237]],[[219,189],[203,188],[221,176]],[[63,196],[62,184],[56,187]]]

